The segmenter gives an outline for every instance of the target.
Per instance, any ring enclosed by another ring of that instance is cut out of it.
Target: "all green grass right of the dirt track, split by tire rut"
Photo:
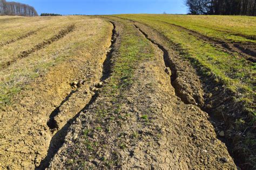
[[[248,112],[248,115],[243,115],[247,117],[247,122],[239,119],[234,123],[238,132],[255,125],[255,63],[246,61],[238,54],[231,55],[223,52],[175,25],[225,41],[255,43],[255,40],[234,36],[234,34],[255,36],[256,17],[180,15],[117,15],[117,17],[134,20],[157,30],[169,40],[167,42],[169,46],[176,45],[174,50],[190,60],[191,64],[198,68],[200,74],[204,77],[213,77],[216,83],[221,83],[226,89],[233,91],[235,102],[242,103],[242,107]],[[230,33],[225,31],[230,31]],[[248,164],[256,164],[255,134],[251,134],[249,129],[246,137],[240,137],[238,140],[233,150],[238,150],[243,154]]]

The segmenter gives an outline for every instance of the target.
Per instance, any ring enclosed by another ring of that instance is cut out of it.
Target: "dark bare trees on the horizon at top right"
[[[256,16],[256,0],[186,0],[194,15]]]

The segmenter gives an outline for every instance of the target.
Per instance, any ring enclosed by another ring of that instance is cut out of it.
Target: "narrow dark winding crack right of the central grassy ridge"
[[[131,21],[131,22],[133,22],[133,21]],[[181,93],[179,93],[179,89],[177,88],[177,84],[173,83],[177,79],[177,70],[176,70],[176,67],[175,67],[174,63],[171,60],[171,57],[170,57],[169,52],[167,51],[167,49],[165,49],[164,46],[158,44],[153,39],[149,38],[149,36],[142,29],[140,29],[139,26],[137,26],[136,24],[134,24],[134,26],[137,28],[137,30],[139,32],[141,32],[145,36],[146,39],[148,39],[152,44],[157,45],[158,48],[161,49],[161,51],[163,52],[163,60],[164,60],[164,63],[165,63],[165,67],[170,68],[170,70],[171,70],[171,85],[175,90],[176,96],[179,97],[180,100],[183,101],[183,103],[192,104],[192,103],[187,103],[187,101],[183,100],[183,97],[179,95]],[[202,105],[201,107],[199,105],[196,105],[196,106],[199,107],[201,110],[205,111],[208,115],[212,115],[211,112],[209,112],[208,110],[207,111],[205,110],[204,105]],[[215,118],[211,117],[211,119],[214,119],[214,121],[217,121]],[[219,138],[219,140],[223,141],[226,144],[226,146],[228,146],[227,141],[225,141],[221,138]],[[230,148],[228,148],[228,150],[230,150]]]

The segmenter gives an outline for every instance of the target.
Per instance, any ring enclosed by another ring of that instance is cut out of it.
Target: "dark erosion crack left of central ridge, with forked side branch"
[[[102,71],[102,77],[100,77],[100,81],[104,81],[109,78],[111,74],[111,58],[112,58],[112,53],[113,53],[113,47],[116,43],[116,38],[117,38],[117,32],[116,32],[116,25],[111,22],[113,25],[113,30],[112,30],[112,38],[111,38],[111,45],[110,45],[110,51],[107,52],[106,59],[103,63],[103,71]],[[100,87],[99,87],[100,88]],[[69,95],[67,95],[62,103],[52,111],[49,117],[49,121],[47,122],[47,125],[50,129],[51,132],[54,132],[56,129],[58,129],[58,124],[55,121],[55,117],[59,114],[59,108],[69,100],[71,95],[75,94],[77,92],[76,90],[72,90]],[[71,124],[76,120],[76,118],[80,115],[81,112],[85,112],[92,103],[96,101],[98,97],[98,91],[95,92],[94,95],[92,95],[89,103],[85,105],[85,107],[80,110],[72,119],[70,119],[66,124],[63,126],[62,129],[58,130],[51,138],[50,146],[48,148],[48,154],[46,157],[41,161],[41,164],[36,168],[36,169],[45,169],[48,168],[50,165],[51,159],[55,156],[55,154],[58,152],[59,148],[64,144],[64,140],[66,137],[66,134],[68,134],[69,127]]]

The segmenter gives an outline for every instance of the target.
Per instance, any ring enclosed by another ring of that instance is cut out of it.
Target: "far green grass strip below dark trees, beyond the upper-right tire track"
[[[256,18],[248,16],[193,16],[193,15],[119,15],[119,17],[151,22],[166,22],[226,41],[256,42]],[[242,36],[240,36],[242,35]]]

